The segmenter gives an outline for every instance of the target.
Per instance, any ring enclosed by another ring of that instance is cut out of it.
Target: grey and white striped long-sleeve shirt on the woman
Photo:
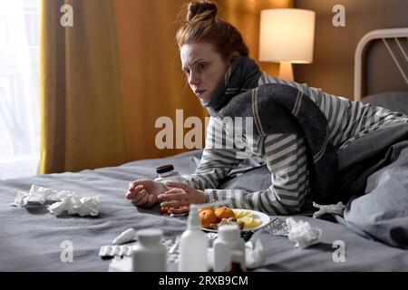
[[[263,73],[258,85],[265,83],[284,83],[305,93],[327,119],[330,139],[339,152],[351,141],[364,134],[383,128],[393,122],[408,122],[403,113],[388,111],[362,102],[351,102],[342,97],[308,87],[306,84],[287,82]],[[190,186],[204,190],[208,201],[231,200],[230,207],[249,208],[268,214],[292,214],[300,211],[309,193],[309,170],[306,155],[306,140],[294,134],[273,134],[261,136],[257,140],[230,139],[225,124],[215,117],[209,120],[206,147],[198,169],[188,177]],[[247,136],[248,137],[248,136]],[[222,144],[233,146],[221,148]],[[271,173],[271,186],[268,189],[248,192],[240,189],[217,189],[223,179],[242,156],[248,154],[263,158]]]

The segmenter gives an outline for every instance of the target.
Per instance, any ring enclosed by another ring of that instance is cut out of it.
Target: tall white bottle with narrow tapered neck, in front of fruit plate
[[[187,230],[180,237],[180,272],[207,272],[207,247],[208,240],[201,231],[199,221],[199,207],[189,206]]]

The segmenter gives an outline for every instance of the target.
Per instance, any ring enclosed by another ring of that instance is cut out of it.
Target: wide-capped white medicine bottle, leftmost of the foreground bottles
[[[133,272],[166,272],[167,248],[161,242],[161,229],[141,229],[136,235],[138,244],[131,254]]]

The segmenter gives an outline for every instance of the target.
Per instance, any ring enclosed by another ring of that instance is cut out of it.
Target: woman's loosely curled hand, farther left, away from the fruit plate
[[[131,199],[131,203],[141,208],[151,208],[158,202],[158,196],[166,192],[166,187],[151,179],[138,179],[129,184],[126,198]]]

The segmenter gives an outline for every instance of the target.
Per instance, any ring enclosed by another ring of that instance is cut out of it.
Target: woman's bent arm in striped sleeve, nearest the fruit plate
[[[294,134],[268,135],[264,141],[271,186],[248,192],[236,189],[205,189],[209,200],[229,198],[232,208],[248,208],[270,215],[300,211],[309,192],[306,140]]]

